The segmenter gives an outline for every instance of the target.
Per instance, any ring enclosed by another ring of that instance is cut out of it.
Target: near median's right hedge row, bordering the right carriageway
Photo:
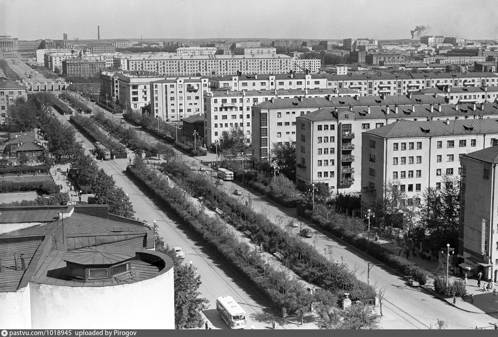
[[[373,287],[358,280],[347,266],[327,259],[295,234],[273,224],[264,214],[254,212],[227,191],[217,188],[205,176],[190,171],[187,165],[170,162],[163,164],[161,169],[172,173],[173,179],[190,190],[193,196],[203,196],[206,206],[221,209],[227,223],[240,231],[249,230],[254,243],[261,244],[268,252],[281,253],[283,263],[307,282],[337,295],[348,292],[354,300],[375,297]]]

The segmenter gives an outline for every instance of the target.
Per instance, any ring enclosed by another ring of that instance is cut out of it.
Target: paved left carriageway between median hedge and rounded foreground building
[[[60,116],[59,118],[67,121],[69,116]],[[93,145],[88,139],[79,132],[77,135],[84,142],[87,150],[93,149]],[[164,242],[170,248],[180,246],[185,253],[185,262],[192,261],[197,267],[202,278],[199,291],[202,297],[209,300],[209,308],[204,311],[204,314],[215,328],[227,329],[226,324],[219,318],[216,311],[216,298],[222,295],[234,297],[246,310],[248,327],[254,325],[256,329],[267,329],[270,322],[275,319],[285,329],[300,328],[296,324],[282,321],[268,307],[268,303],[251,286],[226,267],[223,260],[218,259],[214,252],[204,247],[202,241],[197,239],[186,225],[182,225],[172,212],[125,174],[127,163],[126,159],[98,161],[99,166],[108,174],[112,174],[116,184],[123,187],[125,193],[128,193],[136,211],[135,217],[146,220],[149,224],[156,220],[159,226],[159,235]]]

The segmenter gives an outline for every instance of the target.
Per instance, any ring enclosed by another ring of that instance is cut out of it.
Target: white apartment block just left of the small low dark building
[[[207,78],[201,77],[151,80],[151,113],[175,121],[202,114],[202,97],[209,90],[208,83]]]

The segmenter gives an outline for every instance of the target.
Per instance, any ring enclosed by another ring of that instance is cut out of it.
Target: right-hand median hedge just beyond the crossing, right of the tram
[[[138,133],[133,129],[124,128],[113,120],[104,117],[104,114],[96,114],[94,119],[104,130],[126,144],[131,150],[142,150],[147,157],[157,154],[155,146],[140,139]]]

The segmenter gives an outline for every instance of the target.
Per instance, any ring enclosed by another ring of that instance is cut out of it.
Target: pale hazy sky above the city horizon
[[[0,35],[101,38],[498,39],[497,0],[0,0]]]

